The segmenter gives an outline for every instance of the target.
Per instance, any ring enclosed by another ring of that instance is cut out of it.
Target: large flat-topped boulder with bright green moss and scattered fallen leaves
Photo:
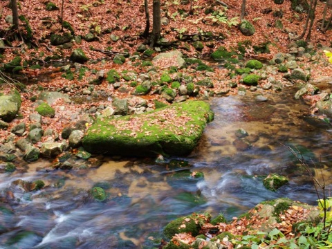
[[[149,113],[97,120],[86,132],[83,147],[90,153],[124,156],[187,155],[196,147],[210,105],[203,101],[172,104]]]

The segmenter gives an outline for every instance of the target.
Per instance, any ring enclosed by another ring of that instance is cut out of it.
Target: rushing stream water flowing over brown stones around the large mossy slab
[[[158,248],[163,226],[192,212],[230,220],[279,197],[315,204],[311,178],[284,145],[316,162],[313,172],[329,189],[332,128],[306,116],[295,91],[264,93],[267,102],[250,92],[211,100],[215,119],[185,158],[104,157],[100,167],[70,171],[46,170],[51,162],[38,160],[23,172],[0,174],[0,248]],[[237,138],[239,129],[249,136]],[[270,192],[262,184],[269,173],[290,182]],[[26,192],[12,184],[17,179],[42,179],[46,187]],[[106,190],[107,201],[91,198],[94,186]]]

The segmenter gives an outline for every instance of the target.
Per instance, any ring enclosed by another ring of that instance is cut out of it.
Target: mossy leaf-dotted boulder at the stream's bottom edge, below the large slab
[[[192,236],[199,235],[201,224],[205,222],[207,217],[200,214],[192,214],[178,218],[169,222],[164,228],[164,234],[168,239],[172,239],[175,234],[190,233]]]

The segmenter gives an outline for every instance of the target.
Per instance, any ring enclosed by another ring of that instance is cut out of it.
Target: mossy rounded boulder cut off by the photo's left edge
[[[15,91],[10,95],[0,96],[0,118],[5,122],[12,121],[21,107],[21,95]]]

